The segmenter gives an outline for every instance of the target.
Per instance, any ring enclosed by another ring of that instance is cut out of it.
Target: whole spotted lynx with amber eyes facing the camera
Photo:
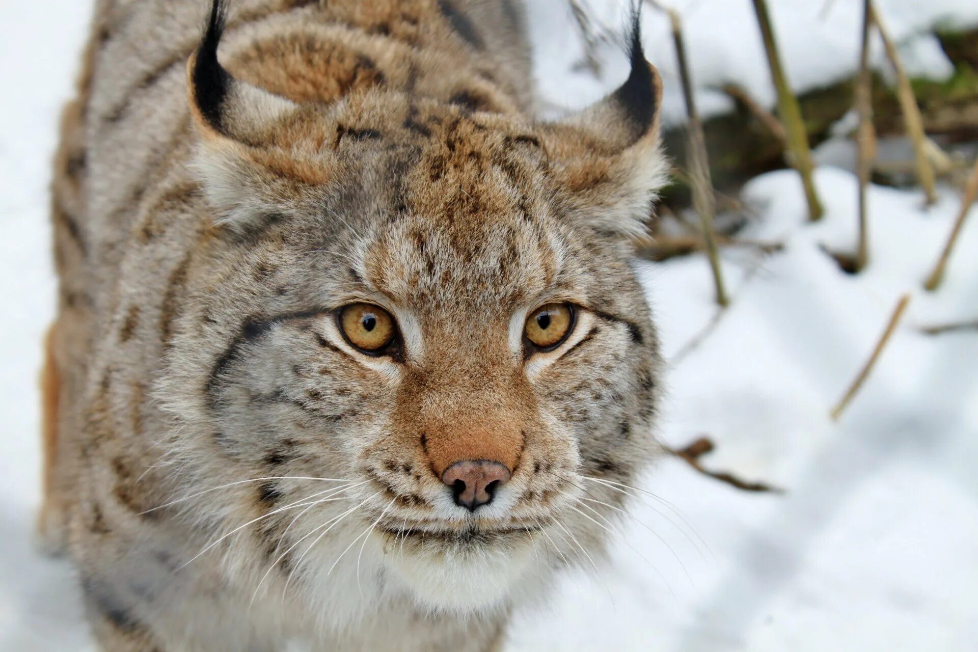
[[[512,0],[233,8],[99,3],[42,534],[107,650],[496,649],[656,451],[638,21],[539,122]]]

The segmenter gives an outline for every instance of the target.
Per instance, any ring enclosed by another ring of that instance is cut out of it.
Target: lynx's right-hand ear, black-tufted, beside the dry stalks
[[[662,80],[645,61],[641,36],[636,11],[625,83],[597,104],[544,128],[548,153],[562,169],[578,213],[606,234],[644,234],[651,204],[667,180],[659,139]]]

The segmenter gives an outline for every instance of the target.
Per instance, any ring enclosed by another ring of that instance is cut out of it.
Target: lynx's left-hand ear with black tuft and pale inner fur
[[[226,138],[247,144],[250,136],[296,105],[235,79],[217,61],[226,22],[224,0],[213,0],[200,46],[187,62],[190,109],[205,140]]]

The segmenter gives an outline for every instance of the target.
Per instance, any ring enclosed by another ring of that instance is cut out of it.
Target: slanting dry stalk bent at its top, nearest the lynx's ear
[[[706,244],[706,256],[710,260],[713,272],[713,283],[716,287],[717,303],[726,307],[730,304],[727,290],[724,287],[723,269],[720,266],[720,254],[713,233],[713,220],[717,214],[716,198],[713,194],[713,183],[710,180],[710,164],[706,154],[706,139],[703,136],[703,124],[696,111],[696,103],[692,95],[692,74],[686,58],[686,43],[683,39],[683,24],[679,14],[668,7],[663,7],[654,0],[649,0],[656,9],[665,12],[672,22],[673,43],[676,47],[676,59],[679,62],[680,79],[683,84],[683,99],[686,102],[686,112],[689,124],[689,179],[692,189],[692,205],[699,215],[702,224],[703,240]]]

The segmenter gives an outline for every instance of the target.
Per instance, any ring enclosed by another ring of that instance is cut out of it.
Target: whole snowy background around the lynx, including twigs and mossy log
[[[525,4],[542,116],[627,75],[627,2]],[[0,0],[0,650],[92,649],[31,542],[49,164],[90,12]],[[643,26],[669,453],[507,649],[976,649],[978,3],[646,0]]]

